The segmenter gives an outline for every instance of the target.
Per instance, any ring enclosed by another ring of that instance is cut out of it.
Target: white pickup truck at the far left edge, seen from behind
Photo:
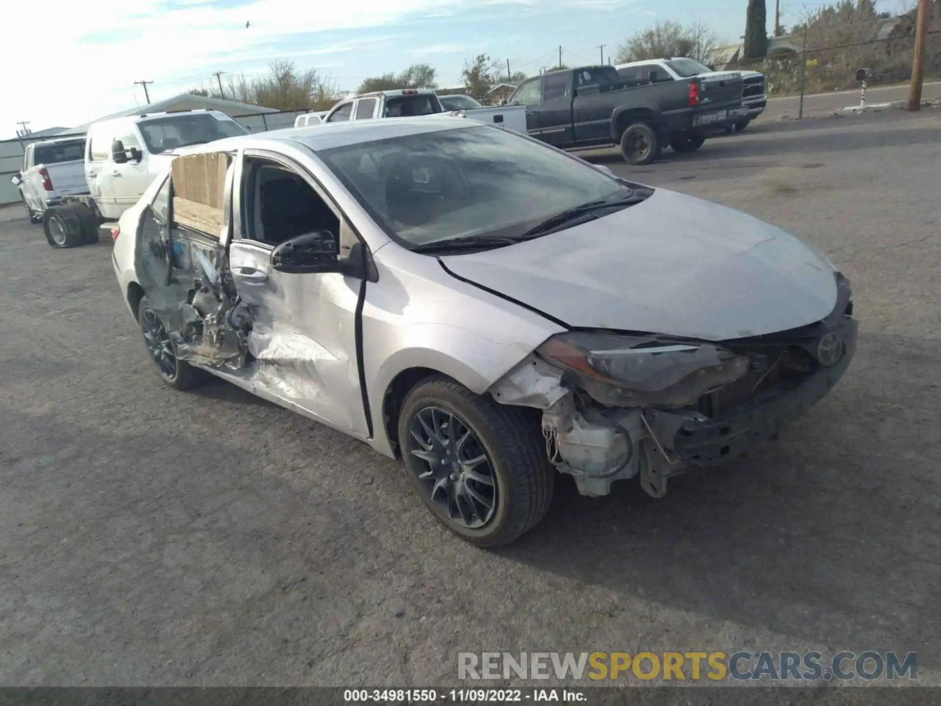
[[[11,182],[31,223],[39,223],[50,205],[64,196],[88,191],[85,183],[85,137],[63,137],[26,145],[23,170]]]

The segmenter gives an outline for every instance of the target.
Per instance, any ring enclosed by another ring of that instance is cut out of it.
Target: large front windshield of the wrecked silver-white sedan
[[[630,194],[587,163],[486,125],[317,154],[406,247],[468,237],[496,243],[585,203]]]

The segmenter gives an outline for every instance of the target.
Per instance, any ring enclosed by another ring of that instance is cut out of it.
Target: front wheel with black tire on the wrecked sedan
[[[504,406],[451,378],[428,377],[407,393],[398,437],[424,505],[471,544],[508,544],[549,509],[554,471],[535,409]]]

